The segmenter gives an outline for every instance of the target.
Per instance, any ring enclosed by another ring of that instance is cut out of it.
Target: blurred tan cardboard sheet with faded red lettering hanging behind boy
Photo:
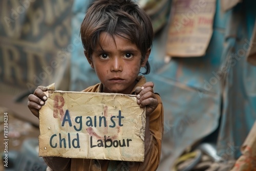
[[[167,55],[205,55],[212,36],[216,0],[174,1],[175,11],[167,39]]]

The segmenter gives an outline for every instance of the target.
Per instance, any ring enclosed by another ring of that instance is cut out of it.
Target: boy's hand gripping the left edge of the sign
[[[47,100],[47,96],[44,93],[47,90],[47,87],[38,86],[37,89],[35,89],[34,94],[30,94],[28,97],[28,107],[33,115],[35,115],[37,118],[39,117],[39,110]]]

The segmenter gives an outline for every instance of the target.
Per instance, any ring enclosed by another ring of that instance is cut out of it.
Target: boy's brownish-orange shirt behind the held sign
[[[132,90],[131,94],[135,94],[137,87],[142,87],[146,82],[145,77],[138,76],[138,83]],[[101,92],[102,84],[89,87],[82,92]],[[158,106],[150,115],[150,143],[145,147],[144,162],[124,162],[110,160],[91,160],[91,159],[71,159],[71,170],[156,170],[161,155],[161,142],[163,136],[163,105],[158,94]]]

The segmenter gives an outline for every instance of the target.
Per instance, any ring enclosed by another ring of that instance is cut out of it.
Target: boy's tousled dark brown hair
[[[90,5],[81,24],[80,34],[85,54],[91,57],[99,45],[100,33],[119,35],[128,38],[141,51],[141,62],[154,37],[150,17],[131,0],[95,0]],[[125,36],[123,36],[124,34]],[[150,73],[150,63],[146,62]]]

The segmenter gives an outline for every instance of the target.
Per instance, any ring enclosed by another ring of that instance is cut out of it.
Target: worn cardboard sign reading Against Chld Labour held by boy
[[[49,92],[39,156],[144,161],[145,108],[134,95]]]

